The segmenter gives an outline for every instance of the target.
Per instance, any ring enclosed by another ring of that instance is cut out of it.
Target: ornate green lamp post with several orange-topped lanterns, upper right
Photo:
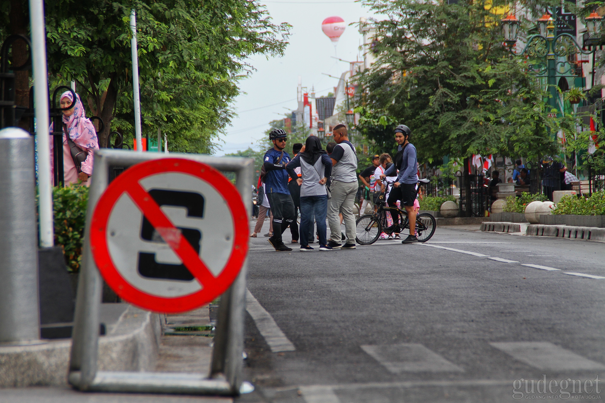
[[[555,19],[553,19],[553,16]],[[511,53],[517,56],[527,54],[529,57],[542,59],[540,63],[530,65],[529,68],[537,73],[537,77],[546,79],[548,91],[551,94],[549,105],[551,106],[551,109],[561,112],[561,108],[557,102],[557,76],[575,77],[575,74],[571,74],[574,71],[574,68],[572,67],[565,70],[564,65],[568,63],[567,60],[557,61],[557,57],[567,57],[577,53],[593,54],[597,50],[595,45],[601,43],[601,21],[603,20],[603,17],[593,12],[585,18],[586,28],[589,33],[589,41],[584,41],[584,46],[594,47],[592,50],[588,51],[583,50],[571,34],[557,34],[556,18],[556,12],[551,14],[546,13],[541,16],[541,18],[537,20],[538,31],[540,33],[531,36],[520,53],[515,53],[514,51],[514,45],[517,43],[518,28],[520,25],[518,19],[514,15],[509,15],[500,21],[502,22],[505,42]],[[557,67],[562,67],[558,74]]]

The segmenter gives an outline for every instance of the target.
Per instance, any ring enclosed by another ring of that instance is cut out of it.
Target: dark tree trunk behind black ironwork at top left
[[[22,34],[28,36],[27,28],[29,26],[28,16],[25,13],[27,10],[27,4],[23,0],[11,0],[10,1],[10,13],[8,18],[10,19],[10,33]],[[30,51],[27,48],[27,44],[24,41],[16,41],[12,46],[12,62],[15,66],[21,66],[27,61]],[[15,71],[15,105],[30,106],[30,83],[29,83],[29,71]],[[16,122],[19,127],[25,130],[30,130],[29,119],[21,119],[20,122]],[[31,128],[33,131],[33,128]]]

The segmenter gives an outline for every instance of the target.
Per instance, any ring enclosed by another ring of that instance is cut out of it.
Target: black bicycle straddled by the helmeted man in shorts
[[[418,180],[418,189],[416,195],[420,191],[420,185],[426,185],[430,181],[428,179]],[[391,186],[390,182],[385,183],[385,191],[380,195],[377,205],[378,210],[373,214],[365,214],[358,218],[356,226],[356,240],[361,245],[371,245],[382,232],[388,234],[397,234],[404,231],[404,229],[410,229],[410,221],[408,221],[408,213],[405,210],[398,209],[396,207],[390,207],[387,205],[385,195],[388,192],[388,187]],[[401,223],[394,223],[393,226],[388,227],[387,214],[391,214],[391,211],[397,212],[397,217],[401,217]],[[420,213],[416,214],[416,237],[419,242],[426,242],[433,237],[435,229],[437,227],[437,221],[433,214]]]

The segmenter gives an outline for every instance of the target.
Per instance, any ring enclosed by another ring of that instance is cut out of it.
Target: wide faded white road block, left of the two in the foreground
[[[419,343],[401,343],[384,346],[361,346],[391,373],[402,372],[464,372],[437,353]]]

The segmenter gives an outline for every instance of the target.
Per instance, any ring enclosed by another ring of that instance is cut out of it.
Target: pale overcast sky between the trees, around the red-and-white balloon
[[[284,113],[296,109],[296,85],[298,76],[302,86],[309,92],[315,87],[316,96],[327,95],[338,84],[338,79],[322,73],[340,76],[348,70],[348,63],[337,61],[338,56],[355,61],[362,36],[356,26],[348,26],[337,42],[336,50],[330,38],[321,30],[321,22],[330,16],[339,16],[346,24],[359,22],[360,17],[371,16],[371,11],[354,1],[334,0],[276,0],[261,1],[267,5],[273,22],[289,22],[292,25],[290,44],[283,57],[253,57],[252,65],[257,68],[250,77],[240,81],[243,94],[235,100],[238,114],[227,135],[219,143],[222,151],[217,156],[248,146],[256,148],[257,140],[269,128],[270,120],[280,119]],[[271,106],[269,106],[271,105]],[[287,108],[287,109],[286,109]]]

